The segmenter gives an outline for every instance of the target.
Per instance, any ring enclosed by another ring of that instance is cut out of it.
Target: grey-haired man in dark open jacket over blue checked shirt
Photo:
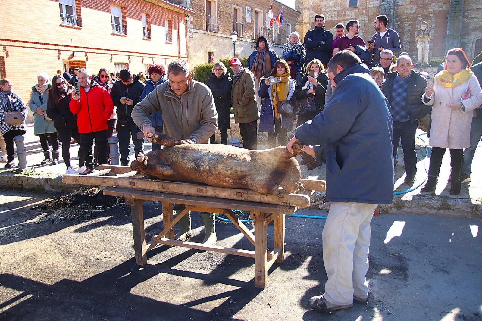
[[[413,67],[412,59],[408,55],[401,55],[395,67],[397,72],[388,73],[382,87],[382,92],[390,103],[393,118],[393,158],[396,161],[398,141],[402,138],[407,184],[414,183],[417,172],[417,120],[424,118],[428,113],[428,107],[422,102],[427,80],[419,72],[412,70]]]

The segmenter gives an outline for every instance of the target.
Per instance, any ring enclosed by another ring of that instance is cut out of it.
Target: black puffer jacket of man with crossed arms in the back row
[[[308,40],[310,38],[311,40]],[[324,44],[321,44],[324,41]],[[305,35],[306,59],[308,64],[313,59],[320,59],[323,65],[327,65],[332,54],[333,34],[325,27],[315,27],[308,30]]]

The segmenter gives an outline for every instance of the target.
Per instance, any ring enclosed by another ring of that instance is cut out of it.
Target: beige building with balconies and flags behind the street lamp
[[[266,16],[271,1],[261,0],[174,0],[179,5],[196,11],[189,16],[188,50],[189,64],[195,67],[222,58],[233,56],[231,32],[238,32],[236,55],[247,57],[254,50],[254,42],[259,36],[265,36],[273,49],[281,56],[282,45],[287,35],[296,31],[296,22],[300,12],[284,6],[283,24],[277,23],[271,28],[266,26]],[[273,1],[273,18],[281,11],[282,4]]]

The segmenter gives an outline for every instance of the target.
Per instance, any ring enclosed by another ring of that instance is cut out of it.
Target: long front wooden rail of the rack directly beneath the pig
[[[107,170],[108,169],[105,169],[103,171]],[[86,176],[64,175],[62,176],[62,182],[67,184],[128,187],[139,190],[162,191],[166,193],[175,193],[191,196],[209,196],[228,200],[290,205],[302,208],[308,207],[310,204],[309,196],[301,194],[283,194],[281,197],[277,197],[274,195],[261,195],[252,190],[242,188],[213,187],[195,183],[170,182],[149,177],[133,178],[100,176],[99,173],[103,172],[94,172],[94,174],[89,174]]]

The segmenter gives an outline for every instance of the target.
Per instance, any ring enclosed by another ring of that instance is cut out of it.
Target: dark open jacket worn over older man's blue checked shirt
[[[389,103],[393,101],[392,89],[393,81],[397,77],[398,72],[390,72],[385,76],[386,80],[382,87],[382,92],[387,97]],[[408,83],[407,88],[407,106],[410,109],[410,121],[420,120],[427,116],[430,111],[430,106],[426,106],[422,102],[422,95],[425,94],[427,88],[427,80],[414,70],[412,70],[412,79]],[[391,107],[390,107],[391,109]]]

